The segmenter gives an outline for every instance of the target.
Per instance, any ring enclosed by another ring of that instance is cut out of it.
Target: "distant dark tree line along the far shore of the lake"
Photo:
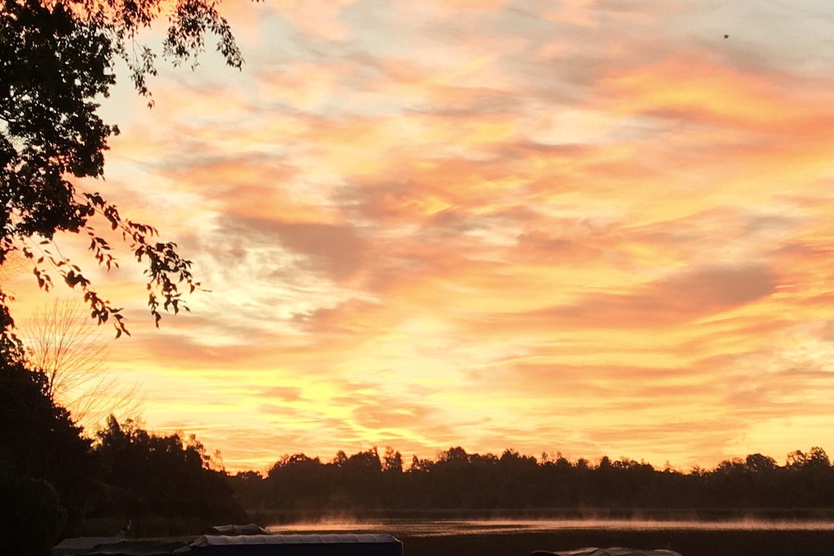
[[[754,453],[716,468],[683,472],[629,458],[592,463],[560,453],[540,458],[506,449],[449,448],[435,459],[377,448],[331,461],[284,455],[266,475],[229,478],[245,508],[274,515],[362,510],[608,508],[613,510],[767,510],[834,508],[834,468],[824,449],[796,450],[780,465]]]

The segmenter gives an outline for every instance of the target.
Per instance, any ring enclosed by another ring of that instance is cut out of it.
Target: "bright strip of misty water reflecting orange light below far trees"
[[[272,533],[392,533],[407,537],[547,533],[558,531],[834,531],[834,521],[733,519],[339,519],[269,526]]]

